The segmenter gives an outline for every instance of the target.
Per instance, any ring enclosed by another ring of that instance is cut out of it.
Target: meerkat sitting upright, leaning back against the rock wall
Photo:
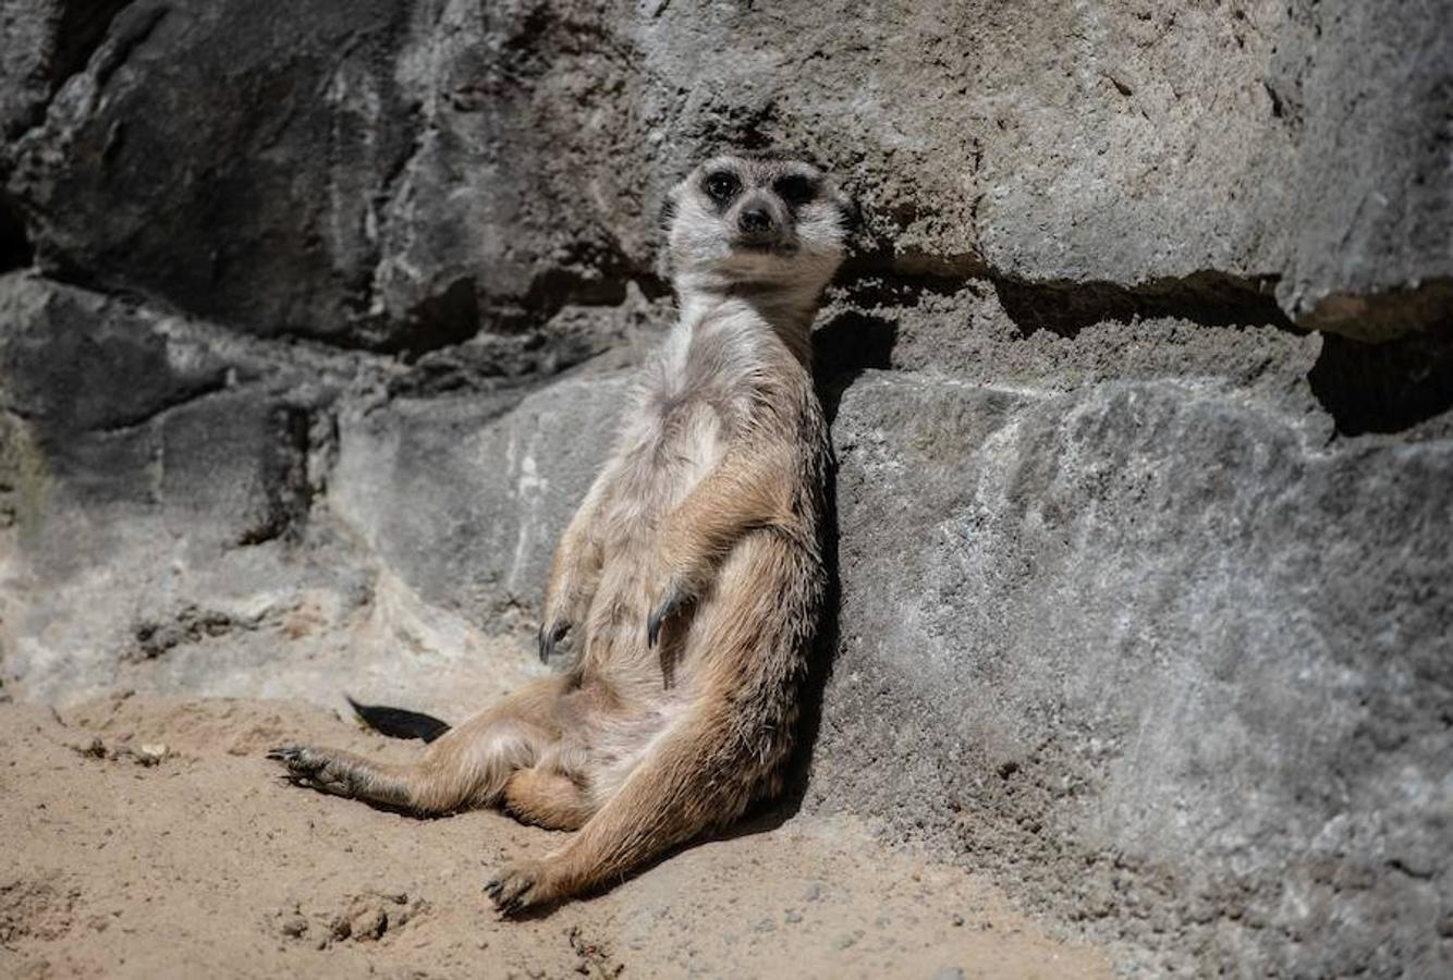
[[[488,881],[504,915],[620,880],[780,791],[827,588],[809,334],[853,213],[779,157],[718,157],[671,189],[679,319],[545,594],[541,658],[570,636],[574,663],[456,727],[417,716],[436,738],[410,765],[272,751],[294,783],[572,830]]]

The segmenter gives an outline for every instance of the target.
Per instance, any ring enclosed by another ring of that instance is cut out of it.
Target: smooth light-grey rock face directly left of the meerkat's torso
[[[535,604],[625,398],[607,376],[513,407],[398,399],[346,415],[330,504],[429,601],[481,618]]]

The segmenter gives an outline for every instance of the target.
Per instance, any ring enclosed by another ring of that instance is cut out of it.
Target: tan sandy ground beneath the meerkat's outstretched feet
[[[417,751],[302,701],[0,704],[6,977],[1109,977],[962,870],[840,817],[758,820],[525,922],[481,894],[559,839],[286,785],[262,752]]]

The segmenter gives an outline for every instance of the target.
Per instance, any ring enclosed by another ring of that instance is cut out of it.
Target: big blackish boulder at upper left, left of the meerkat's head
[[[490,148],[523,110],[478,105],[482,75],[509,68],[479,61],[510,57],[504,19],[450,7],[440,22],[398,0],[288,32],[269,17],[237,1],[118,15],[10,154],[42,267],[247,332],[413,354],[472,337],[481,317],[509,332],[625,296],[599,222],[561,221],[583,174],[542,197],[542,171]],[[115,193],[129,205],[106,206]],[[533,238],[513,232],[526,224]]]

